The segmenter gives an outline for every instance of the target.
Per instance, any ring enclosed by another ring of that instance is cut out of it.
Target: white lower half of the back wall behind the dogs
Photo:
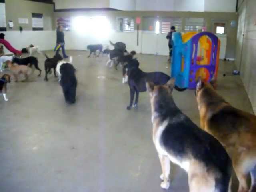
[[[39,46],[39,49],[42,51],[53,50],[56,45],[55,31],[24,31],[22,33],[18,31],[7,31],[5,34],[6,40],[18,50],[30,44]],[[90,33],[81,34],[76,31],[67,31],[64,34],[66,50],[86,50],[88,44],[103,44],[104,48],[109,46],[110,49],[113,49],[113,46],[109,44],[109,40],[111,40],[112,42],[124,42],[129,52],[135,50],[137,53],[168,56],[168,40],[166,40],[166,34],[157,35],[139,30],[138,46],[137,32],[115,32],[112,30],[105,38],[99,38],[99,36]],[[220,40],[220,58],[224,58],[226,39],[220,38]],[[10,53],[6,48],[4,51],[6,54]]]

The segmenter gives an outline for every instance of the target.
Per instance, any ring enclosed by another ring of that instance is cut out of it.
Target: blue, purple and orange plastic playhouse
[[[210,32],[173,33],[171,76],[176,87],[195,89],[200,77],[203,81],[217,78],[220,40]]]

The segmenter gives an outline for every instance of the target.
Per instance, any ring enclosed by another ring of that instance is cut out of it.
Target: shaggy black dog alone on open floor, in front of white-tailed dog
[[[75,71],[76,69],[70,63],[63,63],[60,66],[60,86],[62,86],[66,102],[71,104],[76,102],[77,80]]]

